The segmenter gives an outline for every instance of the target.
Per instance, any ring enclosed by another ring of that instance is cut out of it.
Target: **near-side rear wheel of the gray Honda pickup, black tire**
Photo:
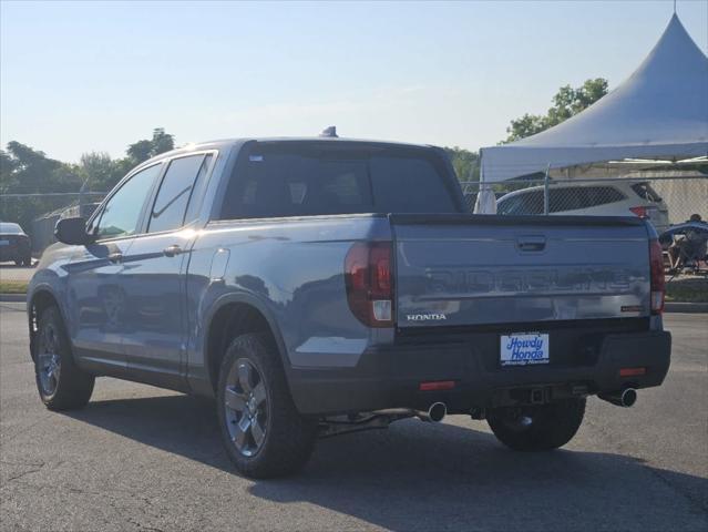
[[[246,366],[254,377],[248,387],[243,387],[240,370]],[[234,371],[237,382],[233,381]],[[256,412],[254,393],[248,395],[247,388],[255,392],[261,383],[265,391],[261,389],[260,395],[266,402],[258,402],[265,406],[258,407]],[[233,403],[227,407],[227,393],[232,400],[234,396],[242,402],[244,398],[250,397],[250,400],[239,403],[243,409],[239,411],[232,408]],[[277,347],[265,334],[239,336],[226,349],[219,369],[216,408],[226,452],[238,472],[246,477],[265,479],[294,473],[307,463],[312,453],[317,420],[305,418],[297,411]],[[247,427],[243,431],[242,421]],[[256,424],[261,427],[258,429],[259,442],[253,432]],[[244,448],[239,449],[237,442]]]

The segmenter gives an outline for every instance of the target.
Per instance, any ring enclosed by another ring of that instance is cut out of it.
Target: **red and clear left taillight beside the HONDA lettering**
[[[345,259],[347,300],[369,327],[393,326],[393,276],[390,242],[358,242]]]

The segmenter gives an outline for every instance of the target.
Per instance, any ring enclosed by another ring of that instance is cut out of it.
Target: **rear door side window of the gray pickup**
[[[192,197],[197,196],[194,192],[204,182],[209,157],[204,154],[191,155],[170,163],[153,204],[148,233],[176,229],[191,222],[185,219],[187,205]],[[192,208],[189,211],[194,212]]]

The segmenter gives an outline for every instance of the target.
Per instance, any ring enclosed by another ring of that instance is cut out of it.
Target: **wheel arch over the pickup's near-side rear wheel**
[[[213,305],[204,328],[204,366],[212,391],[216,392],[218,369],[226,347],[247,332],[266,332],[277,348],[289,381],[289,364],[280,328],[268,307],[249,294],[227,294]]]

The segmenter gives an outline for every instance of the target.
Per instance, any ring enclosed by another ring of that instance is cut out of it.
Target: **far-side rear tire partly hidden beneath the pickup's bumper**
[[[494,436],[515,451],[548,451],[565,446],[579,429],[585,399],[566,399],[521,408],[497,408],[488,412]]]

